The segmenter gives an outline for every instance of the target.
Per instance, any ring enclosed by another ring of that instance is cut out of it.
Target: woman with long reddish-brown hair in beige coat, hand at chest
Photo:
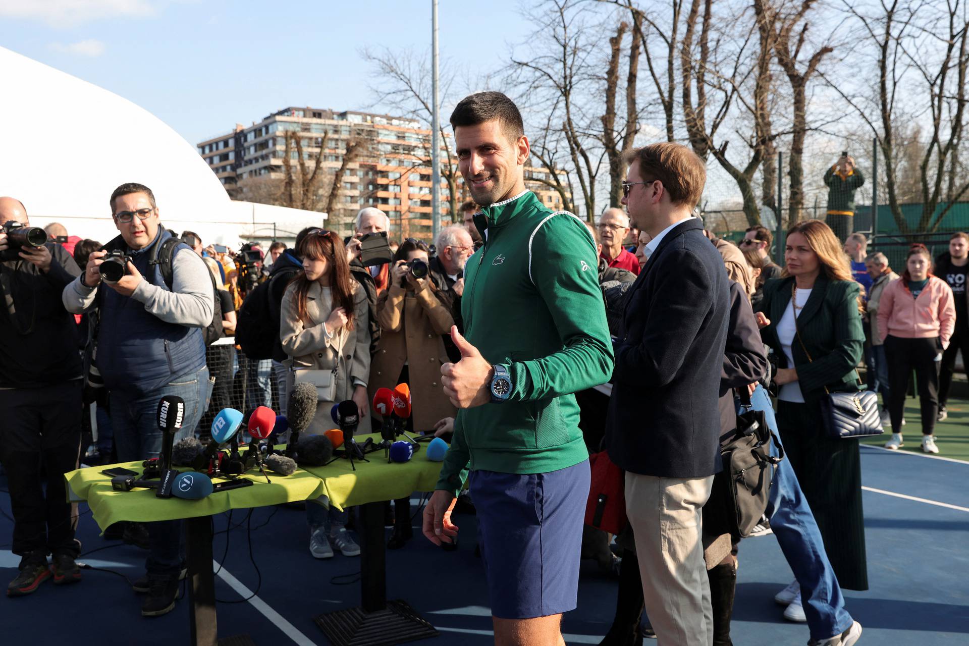
[[[359,409],[359,432],[370,431],[367,380],[370,378],[370,332],[366,293],[350,276],[343,241],[333,231],[311,231],[297,249],[303,271],[283,295],[279,339],[291,368],[287,391],[297,379],[314,371],[329,379],[313,379],[320,401],[307,433],[318,435],[332,427],[334,402],[353,400]],[[332,380],[332,381],[330,381]],[[326,382],[327,385],[322,385]],[[318,559],[333,556],[330,541],[344,556],[357,556],[359,546],[344,527],[346,511],[328,507],[325,498],[306,505],[310,553]],[[327,524],[329,523],[329,528]],[[329,538],[329,539],[328,539]]]

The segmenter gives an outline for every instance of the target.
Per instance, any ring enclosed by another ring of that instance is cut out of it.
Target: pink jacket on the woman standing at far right
[[[889,334],[903,339],[939,337],[949,347],[955,328],[953,291],[946,281],[929,276],[918,298],[912,297],[905,279],[891,281],[878,306],[878,334],[884,342]]]

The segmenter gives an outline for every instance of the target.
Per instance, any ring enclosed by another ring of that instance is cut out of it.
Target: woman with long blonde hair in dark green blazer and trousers
[[[778,359],[777,427],[838,582],[867,590],[858,441],[829,438],[821,419],[826,387],[859,389],[861,287],[821,220],[788,231],[785,263],[783,277],[764,286],[757,315]]]

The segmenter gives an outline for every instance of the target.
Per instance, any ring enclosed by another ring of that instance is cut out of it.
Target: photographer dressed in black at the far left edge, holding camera
[[[34,592],[51,573],[55,583],[80,579],[78,506],[67,501],[64,474],[78,468],[83,380],[76,323],[60,302],[79,273],[63,247],[30,227],[19,200],[0,198],[0,463],[20,557],[8,597]]]

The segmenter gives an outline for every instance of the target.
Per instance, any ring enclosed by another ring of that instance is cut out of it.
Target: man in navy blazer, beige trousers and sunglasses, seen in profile
[[[626,295],[606,424],[610,459],[626,471],[646,613],[661,644],[713,638],[701,509],[720,471],[720,372],[730,316],[724,262],[692,211],[703,161],[686,146],[634,151],[622,202],[652,236]]]

